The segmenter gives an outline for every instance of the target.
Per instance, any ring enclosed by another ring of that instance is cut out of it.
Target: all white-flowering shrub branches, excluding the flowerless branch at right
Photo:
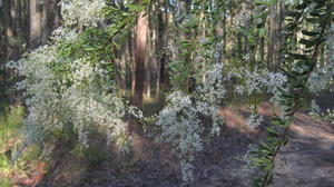
[[[116,95],[112,51],[121,37],[115,36],[122,32],[121,28],[129,30],[127,26],[132,26],[136,16],[146,7],[126,2],[128,10],[122,12],[115,7],[107,9],[105,0],[61,0],[60,4],[62,26],[53,32],[51,41],[18,62],[8,63],[23,78],[17,88],[23,90],[27,98],[26,142],[47,142],[53,135],[71,132],[77,145],[87,148],[91,131],[98,130],[107,135],[109,142],[125,145],[128,138],[126,115],[131,114],[143,121],[148,118]],[[199,10],[199,7],[194,9]],[[198,22],[206,19],[199,19],[196,12],[200,11],[194,11],[193,16],[178,12],[180,19],[176,20],[184,19],[179,24],[181,28],[198,29]],[[104,17],[108,17],[108,21],[104,21]],[[252,13],[244,14],[239,24],[246,28],[252,17]],[[209,26],[214,20],[206,21]],[[263,121],[257,112],[259,95],[275,97],[286,83],[286,77],[279,72],[271,72],[261,66],[250,67],[254,63],[248,61],[252,53],[246,55],[238,66],[223,63],[219,36],[191,35],[185,40],[174,38],[169,41],[171,45],[166,55],[170,60],[174,91],[155,116],[160,130],[157,138],[173,146],[179,157],[183,180],[187,183],[194,178],[196,152],[222,130],[224,119],[217,111],[219,105],[228,101],[227,96],[238,94],[254,99],[247,125],[255,129]],[[317,81],[316,75],[314,77]],[[194,83],[196,89],[190,91],[185,87],[191,78],[197,82]]]

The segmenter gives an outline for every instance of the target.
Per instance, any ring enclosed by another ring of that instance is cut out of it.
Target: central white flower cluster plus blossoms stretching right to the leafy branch
[[[229,81],[235,81],[235,87],[226,87]],[[179,156],[184,181],[193,179],[195,154],[203,150],[205,141],[222,129],[224,119],[217,111],[218,106],[227,100],[227,92],[242,96],[266,92],[275,96],[285,82],[285,76],[279,72],[266,69],[236,71],[224,63],[214,63],[205,72],[205,81],[196,91],[185,94],[177,90],[168,95],[167,105],[157,116],[157,126],[161,131],[160,138],[171,144]],[[250,110],[247,125],[255,129],[262,124],[263,117],[254,107]]]

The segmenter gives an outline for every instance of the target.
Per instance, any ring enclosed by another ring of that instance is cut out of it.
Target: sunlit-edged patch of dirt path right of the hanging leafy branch
[[[297,114],[278,154],[273,187],[334,187],[334,125]]]

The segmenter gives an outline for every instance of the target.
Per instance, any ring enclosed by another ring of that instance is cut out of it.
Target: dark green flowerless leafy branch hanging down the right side
[[[263,175],[254,180],[254,186],[268,186],[273,181],[275,157],[279,148],[287,142],[292,118],[301,106],[306,90],[306,82],[318,61],[318,51],[327,37],[333,21],[333,1],[306,0],[293,4],[286,18],[285,63],[282,68],[287,77],[285,89],[279,90],[278,101],[283,114],[267,128],[266,142],[254,151],[253,165]],[[304,26],[313,26],[306,30]],[[301,37],[296,37],[297,33]]]

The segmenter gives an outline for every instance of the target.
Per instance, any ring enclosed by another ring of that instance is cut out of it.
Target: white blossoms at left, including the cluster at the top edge
[[[87,148],[91,130],[106,132],[109,141],[124,145],[127,105],[116,96],[112,77],[104,61],[88,57],[65,57],[60,43],[77,39],[72,26],[97,27],[102,0],[66,0],[63,24],[56,30],[50,45],[40,47],[18,62],[8,63],[24,79],[17,88],[24,91],[28,116],[26,142],[41,144],[61,131],[73,131],[78,146]]]

